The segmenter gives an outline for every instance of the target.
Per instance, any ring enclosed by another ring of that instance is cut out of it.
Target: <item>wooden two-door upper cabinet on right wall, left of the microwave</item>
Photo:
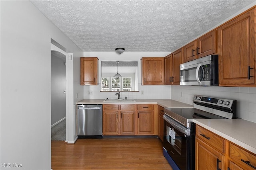
[[[165,60],[165,84],[180,84],[180,64],[183,63],[184,49],[178,49],[174,53],[164,57]]]

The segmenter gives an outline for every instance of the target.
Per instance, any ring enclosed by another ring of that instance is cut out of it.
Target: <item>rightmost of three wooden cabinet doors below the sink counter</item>
[[[153,134],[154,111],[138,111],[138,134]]]

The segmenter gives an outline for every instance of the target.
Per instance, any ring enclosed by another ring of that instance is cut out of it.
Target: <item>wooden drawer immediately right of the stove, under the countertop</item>
[[[202,141],[208,143],[218,151],[224,153],[224,143],[225,140],[219,137],[218,135],[200,127],[196,126],[196,135],[198,138],[200,138]]]

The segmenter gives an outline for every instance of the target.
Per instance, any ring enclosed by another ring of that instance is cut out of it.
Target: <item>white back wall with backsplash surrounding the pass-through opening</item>
[[[114,51],[114,49],[113,49]],[[98,57],[99,59],[99,85],[84,86],[84,99],[106,99],[117,98],[116,92],[100,92],[101,89],[101,61],[138,61],[138,90],[140,92],[120,92],[121,98],[130,99],[170,99],[170,86],[166,85],[141,85],[140,59],[142,57],[165,57],[170,53],[128,53],[124,51],[121,55],[115,52],[99,53],[84,52],[84,57]],[[120,73],[120,72],[119,72]],[[120,73],[122,75],[122,73]],[[92,95],[88,95],[88,90]],[[143,91],[143,95],[141,93]]]

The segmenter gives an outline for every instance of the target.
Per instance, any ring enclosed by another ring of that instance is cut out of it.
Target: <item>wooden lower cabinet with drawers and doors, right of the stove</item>
[[[199,125],[196,125],[195,152],[196,170],[218,170],[218,168],[220,170],[256,169],[256,154]]]

